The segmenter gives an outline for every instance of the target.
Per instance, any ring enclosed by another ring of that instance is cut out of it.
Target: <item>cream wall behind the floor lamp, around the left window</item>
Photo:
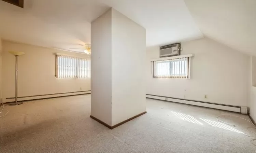
[[[2,98],[15,97],[15,56],[8,51],[25,52],[18,57],[18,97],[90,90],[90,79],[55,77],[55,53],[88,55],[5,40],[2,46]]]

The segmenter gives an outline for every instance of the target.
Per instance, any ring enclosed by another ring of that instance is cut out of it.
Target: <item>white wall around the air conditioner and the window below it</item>
[[[248,55],[209,38],[181,46],[182,55],[195,55],[191,59],[191,79],[153,78],[150,59],[159,58],[159,47],[147,48],[147,94],[248,106]]]

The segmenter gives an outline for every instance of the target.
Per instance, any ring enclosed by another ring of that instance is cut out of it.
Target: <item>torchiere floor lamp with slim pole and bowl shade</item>
[[[9,105],[20,105],[23,102],[18,102],[18,56],[25,54],[24,52],[14,52],[10,51],[9,53],[15,55],[15,102],[9,103]]]

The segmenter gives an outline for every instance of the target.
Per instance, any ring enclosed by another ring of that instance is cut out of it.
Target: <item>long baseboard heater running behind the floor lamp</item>
[[[90,93],[91,93],[91,90],[76,91],[76,92],[65,92],[65,93],[57,93],[57,94],[47,94],[47,95],[24,96],[24,97],[18,97],[18,101],[38,100],[38,99],[65,97],[65,96],[74,96],[74,95],[84,95],[84,94],[90,94]],[[15,97],[2,98],[1,102],[2,103],[15,102]]]

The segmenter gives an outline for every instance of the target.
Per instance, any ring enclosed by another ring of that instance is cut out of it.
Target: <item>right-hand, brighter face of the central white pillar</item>
[[[112,125],[146,111],[146,30],[112,10]]]

